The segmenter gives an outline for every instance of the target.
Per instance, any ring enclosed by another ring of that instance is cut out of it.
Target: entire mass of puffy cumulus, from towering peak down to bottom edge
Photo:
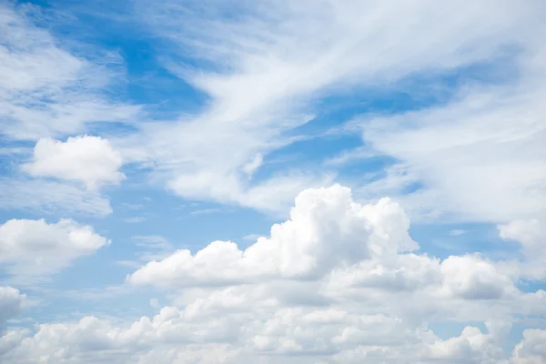
[[[62,224],[62,223],[59,223]],[[215,241],[126,278],[166,289],[156,316],[87,316],[5,332],[0,359],[46,363],[539,363],[541,329],[510,352],[516,316],[546,312],[500,263],[418,254],[389,199],[361,205],[347,187],[309,189],[290,218],[246,249]],[[485,329],[470,324],[481,322]],[[440,336],[435,325],[458,328]],[[542,360],[542,361],[541,361]]]

